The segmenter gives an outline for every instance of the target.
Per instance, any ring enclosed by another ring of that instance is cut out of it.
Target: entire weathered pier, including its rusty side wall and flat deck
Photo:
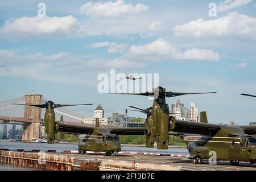
[[[68,151],[65,151],[68,152]],[[230,166],[229,162],[210,165],[193,164],[187,157],[173,157],[142,154],[118,154],[115,157],[104,154],[69,154],[56,152],[0,151],[0,162],[20,167],[41,168],[53,171],[255,171],[256,165],[241,163]]]

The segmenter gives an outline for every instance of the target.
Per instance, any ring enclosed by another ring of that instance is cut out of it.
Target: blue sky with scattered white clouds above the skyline
[[[0,0],[0,101],[35,93],[92,117],[127,106],[146,108],[140,96],[99,94],[97,76],[159,73],[172,92],[207,110],[209,122],[256,121],[256,2],[233,1],[2,1]],[[46,16],[38,17],[38,4]],[[209,3],[217,16],[210,17]],[[139,113],[130,115],[145,117]]]

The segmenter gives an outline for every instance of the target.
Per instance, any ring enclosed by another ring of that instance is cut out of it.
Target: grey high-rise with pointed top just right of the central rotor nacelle
[[[171,114],[177,120],[189,121],[189,110],[180,103],[180,100],[177,100],[176,104],[171,105]]]

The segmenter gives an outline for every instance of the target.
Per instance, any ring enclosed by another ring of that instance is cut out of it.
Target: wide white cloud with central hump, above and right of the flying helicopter
[[[182,52],[179,49],[171,46],[170,43],[163,39],[155,40],[154,42],[146,44],[145,46],[133,45],[130,47],[129,52],[127,52],[124,56],[137,57],[138,60],[220,60],[218,52],[214,52],[212,49],[192,48]]]

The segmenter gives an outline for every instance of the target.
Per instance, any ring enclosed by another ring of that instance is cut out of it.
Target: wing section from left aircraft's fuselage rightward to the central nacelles
[[[146,127],[116,127],[108,129],[111,134],[116,135],[145,135],[147,132]]]

